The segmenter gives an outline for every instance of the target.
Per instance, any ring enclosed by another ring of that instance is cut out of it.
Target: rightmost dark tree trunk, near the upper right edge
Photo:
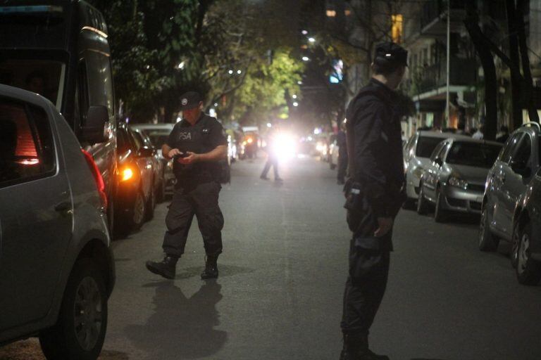
[[[528,1],[529,3],[529,1]],[[524,13],[526,10],[527,2],[524,0],[517,0],[516,2],[516,24],[518,27],[518,44],[521,51],[522,60],[522,72],[524,77],[524,90],[523,96],[524,105],[528,106],[528,115],[530,115],[530,121],[539,122],[539,116],[537,115],[537,108],[535,106],[533,98],[533,80],[532,72],[530,70],[530,58],[528,56],[528,43],[526,42],[526,24],[524,23]]]

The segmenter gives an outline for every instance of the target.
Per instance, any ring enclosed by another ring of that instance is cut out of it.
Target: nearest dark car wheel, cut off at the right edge
[[[530,224],[523,226],[519,234],[516,277],[523,285],[536,285],[541,280],[541,264],[531,258],[532,229]]]

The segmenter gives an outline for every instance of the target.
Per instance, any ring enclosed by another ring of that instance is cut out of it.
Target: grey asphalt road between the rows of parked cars
[[[232,168],[220,278],[199,274],[193,224],[175,281],[150,274],[161,258],[166,203],[141,231],[113,243],[117,283],[101,359],[338,359],[349,231],[335,172],[313,159],[261,181],[261,160]],[[519,285],[506,256],[477,250],[477,219],[435,224],[402,210],[390,280],[371,347],[391,359],[539,360],[541,286]],[[37,342],[0,360],[42,359]]]

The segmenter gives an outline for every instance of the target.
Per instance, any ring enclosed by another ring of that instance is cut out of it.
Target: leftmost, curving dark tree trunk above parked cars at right
[[[486,46],[479,34],[483,34],[479,27],[479,15],[473,1],[466,1],[466,30],[470,34],[475,51],[481,60],[483,72],[485,74],[485,133],[484,138],[487,140],[496,139],[497,133],[497,78],[496,66],[490,48]]]

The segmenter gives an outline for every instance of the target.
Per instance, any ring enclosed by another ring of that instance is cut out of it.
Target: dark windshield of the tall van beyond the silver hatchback
[[[15,86],[48,98],[61,110],[66,64],[58,60],[1,59],[0,84]]]

